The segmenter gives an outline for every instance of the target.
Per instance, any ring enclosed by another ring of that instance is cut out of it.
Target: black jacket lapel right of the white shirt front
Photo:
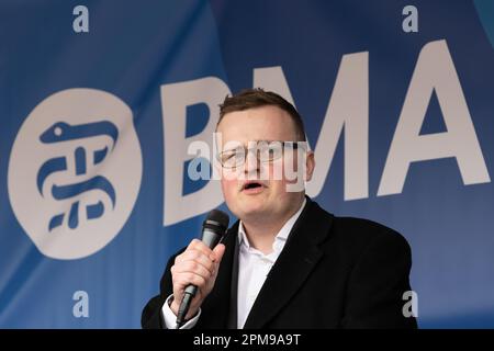
[[[308,197],[283,251],[272,267],[245,322],[245,329],[262,328],[302,286],[323,252],[318,244],[329,233],[332,215]]]

